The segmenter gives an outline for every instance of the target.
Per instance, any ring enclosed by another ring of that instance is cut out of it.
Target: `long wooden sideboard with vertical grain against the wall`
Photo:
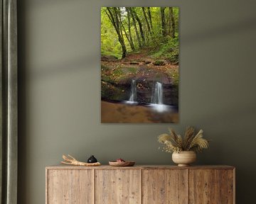
[[[46,204],[234,204],[233,166],[46,167]]]

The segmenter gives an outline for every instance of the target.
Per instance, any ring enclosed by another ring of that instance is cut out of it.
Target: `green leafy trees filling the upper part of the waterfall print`
[[[178,7],[102,7],[102,55],[124,58],[145,47],[178,60]]]

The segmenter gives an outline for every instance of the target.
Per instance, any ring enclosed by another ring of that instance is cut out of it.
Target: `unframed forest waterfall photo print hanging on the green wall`
[[[101,8],[101,123],[178,123],[178,7]]]

